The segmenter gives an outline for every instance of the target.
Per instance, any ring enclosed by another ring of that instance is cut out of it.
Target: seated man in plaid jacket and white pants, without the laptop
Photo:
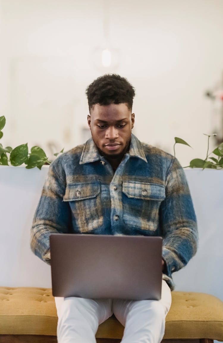
[[[95,342],[98,325],[114,313],[125,326],[123,343],[158,343],[171,305],[171,274],[197,249],[187,181],[175,157],[131,133],[135,91],[126,79],[101,76],[86,94],[92,139],[50,165],[32,250],[50,263],[49,236],[57,232],[162,236],[162,295],[159,301],[55,298],[58,342]]]

